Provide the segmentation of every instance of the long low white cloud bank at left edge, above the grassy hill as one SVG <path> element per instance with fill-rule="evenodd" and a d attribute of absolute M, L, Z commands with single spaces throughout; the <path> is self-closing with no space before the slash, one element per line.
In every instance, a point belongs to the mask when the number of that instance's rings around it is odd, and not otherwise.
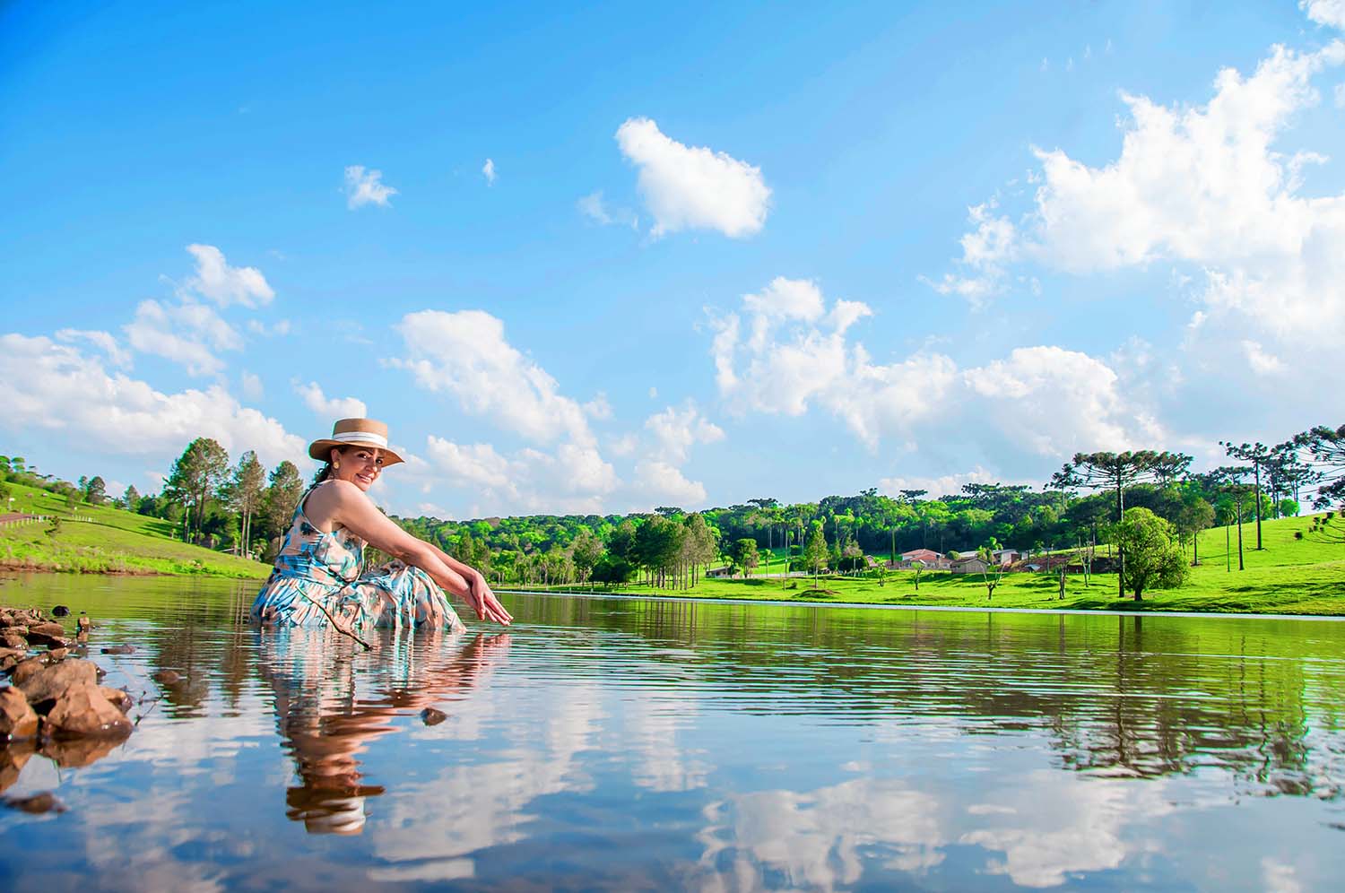
<path fill-rule="evenodd" d="M 13 430 L 61 432 L 117 455 L 167 457 L 195 437 L 214 437 L 231 453 L 256 449 L 266 464 L 305 455 L 301 438 L 221 386 L 165 394 L 47 338 L 0 335 L 0 378 L 11 386 L 0 424 Z"/>

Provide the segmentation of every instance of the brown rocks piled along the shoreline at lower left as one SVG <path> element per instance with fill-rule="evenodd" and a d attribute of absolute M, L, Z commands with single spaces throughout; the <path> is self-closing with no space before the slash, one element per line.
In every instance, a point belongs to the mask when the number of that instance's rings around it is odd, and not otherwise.
<path fill-rule="evenodd" d="M 136 699 L 100 685 L 105 671 L 87 659 L 90 628 L 85 615 L 71 635 L 38 609 L 0 607 L 0 674 L 8 676 L 0 687 L 0 795 L 35 754 L 62 768 L 83 767 L 134 730 L 128 714 Z M 0 802 L 27 812 L 65 810 L 50 792 Z"/>

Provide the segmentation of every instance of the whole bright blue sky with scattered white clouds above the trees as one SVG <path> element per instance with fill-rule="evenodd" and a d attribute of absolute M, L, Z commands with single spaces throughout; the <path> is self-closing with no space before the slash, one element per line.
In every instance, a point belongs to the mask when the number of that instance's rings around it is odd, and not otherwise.
<path fill-rule="evenodd" d="M 1342 421 L 1338 1 L 235 7 L 0 12 L 0 452 L 362 405 L 461 518 Z"/>

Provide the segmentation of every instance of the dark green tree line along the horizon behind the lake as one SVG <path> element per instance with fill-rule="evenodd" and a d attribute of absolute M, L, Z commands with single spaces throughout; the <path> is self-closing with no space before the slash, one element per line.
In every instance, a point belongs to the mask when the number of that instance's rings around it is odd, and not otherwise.
<path fill-rule="evenodd" d="M 529 515 L 475 520 L 395 518 L 404 529 L 480 568 L 499 584 L 615 584 L 643 580 L 687 588 L 712 568 L 819 574 L 858 572 L 866 555 L 896 559 L 902 551 L 972 551 L 990 545 L 1024 551 L 1115 546 L 1118 585 L 1126 580 L 1122 527 L 1143 508 L 1162 531 L 1190 547 L 1210 526 L 1295 515 L 1305 494 L 1317 508 L 1345 502 L 1345 425 L 1317 426 L 1284 442 L 1221 442 L 1229 464 L 1192 472 L 1192 457 L 1165 451 L 1077 453 L 1052 480 L 970 483 L 956 494 L 924 490 L 896 495 L 876 488 L 815 503 L 759 498 L 699 512 L 663 506 L 629 515 Z M 217 549 L 273 558 L 304 492 L 299 468 L 281 461 L 268 472 L 254 452 L 230 463 L 217 441 L 200 437 L 183 451 L 157 495 L 128 487 L 109 498 L 100 476 L 78 484 L 36 475 L 22 457 L 0 456 L 0 475 L 27 480 L 79 502 L 116 503 L 164 518 L 179 535 Z M 1151 533 L 1151 531 L 1150 531 Z M 1240 562 L 1241 564 L 1241 562 Z M 1138 573 L 1138 570 L 1137 570 Z"/>

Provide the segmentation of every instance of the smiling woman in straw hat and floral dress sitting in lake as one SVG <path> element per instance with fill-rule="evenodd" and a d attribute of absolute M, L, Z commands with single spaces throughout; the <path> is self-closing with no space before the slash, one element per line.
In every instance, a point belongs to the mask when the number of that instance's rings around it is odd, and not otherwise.
<path fill-rule="evenodd" d="M 295 508 L 276 569 L 252 607 L 266 625 L 321 625 L 346 633 L 369 627 L 465 629 L 444 590 L 482 620 L 512 617 L 486 578 L 389 520 L 366 495 L 387 465 L 402 457 L 387 446 L 387 425 L 343 418 L 308 455 L 327 465 Z M 395 559 L 363 570 L 364 546 Z"/>

